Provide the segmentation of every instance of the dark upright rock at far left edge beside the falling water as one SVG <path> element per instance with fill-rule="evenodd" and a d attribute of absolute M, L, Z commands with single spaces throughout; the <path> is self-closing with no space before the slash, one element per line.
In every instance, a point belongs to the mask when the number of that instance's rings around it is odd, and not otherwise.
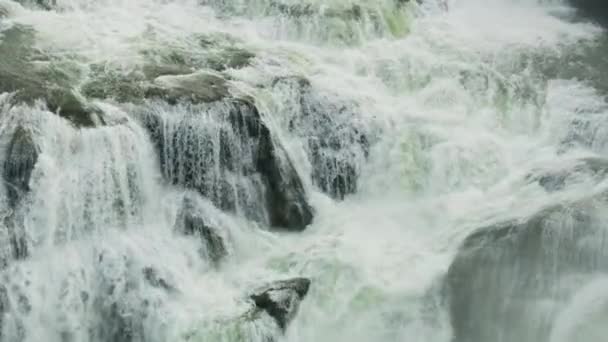
<path fill-rule="evenodd" d="M 38 161 L 38 154 L 32 133 L 23 126 L 18 126 L 8 145 L 2 174 L 12 208 L 30 190 L 30 177 Z"/>

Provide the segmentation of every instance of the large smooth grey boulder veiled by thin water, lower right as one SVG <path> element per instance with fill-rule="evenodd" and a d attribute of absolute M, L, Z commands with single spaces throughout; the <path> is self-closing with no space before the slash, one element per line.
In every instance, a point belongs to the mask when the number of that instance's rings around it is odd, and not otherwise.
<path fill-rule="evenodd" d="M 454 341 L 548 341 L 559 306 L 608 270 L 605 213 L 601 195 L 467 237 L 445 280 Z"/>

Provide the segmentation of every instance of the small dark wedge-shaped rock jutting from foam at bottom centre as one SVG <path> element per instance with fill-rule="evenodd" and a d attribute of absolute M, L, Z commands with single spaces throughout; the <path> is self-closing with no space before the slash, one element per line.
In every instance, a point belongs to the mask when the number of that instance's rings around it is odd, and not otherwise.
<path fill-rule="evenodd" d="M 264 310 L 275 319 L 277 325 L 285 330 L 308 294 L 310 279 L 294 278 L 274 282 L 251 295 L 259 310 Z"/>

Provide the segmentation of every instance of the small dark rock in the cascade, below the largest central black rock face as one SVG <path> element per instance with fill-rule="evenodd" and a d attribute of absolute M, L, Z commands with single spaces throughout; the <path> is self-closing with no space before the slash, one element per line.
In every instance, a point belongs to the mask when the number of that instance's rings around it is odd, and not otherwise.
<path fill-rule="evenodd" d="M 177 231 L 185 235 L 197 236 L 201 240 L 203 247 L 200 252 L 204 257 L 217 264 L 228 255 L 222 235 L 217 232 L 217 228 L 210 227 L 196 212 L 193 201 L 188 197 L 184 198 L 177 220 L 175 224 Z"/>

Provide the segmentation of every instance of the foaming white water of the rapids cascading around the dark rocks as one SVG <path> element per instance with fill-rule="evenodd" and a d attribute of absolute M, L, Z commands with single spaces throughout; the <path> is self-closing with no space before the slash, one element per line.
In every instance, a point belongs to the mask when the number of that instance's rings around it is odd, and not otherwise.
<path fill-rule="evenodd" d="M 286 13 L 276 3 L 294 7 Z M 40 151 L 16 213 L 8 188 L 0 187 L 0 216 L 16 215 L 28 241 L 28 257 L 7 262 L 0 275 L 12 303 L 0 320 L 2 342 L 119 342 L 92 333 L 115 324 L 108 313 L 114 309 L 100 313 L 87 303 L 95 291 L 110 293 L 99 305 L 118 303 L 120 315 L 139 324 L 120 342 L 450 342 L 444 278 L 469 234 L 608 189 L 587 175 L 555 192 L 527 181 L 538 170 L 608 154 L 608 40 L 567 2 L 426 0 L 396 7 L 392 0 L 309 0 L 295 13 L 298 3 L 57 0 L 42 8 L 0 0 L 0 52 L 10 42 L 3 32 L 31 27 L 36 51 L 80 70 L 85 83 L 97 77 L 90 65 L 130 75 L 147 51 L 205 55 L 198 36 L 251 52 L 250 63 L 228 66 L 222 77 L 233 93 L 255 99 L 314 209 L 304 231 L 283 232 L 268 217 L 222 211 L 214 198 L 196 197 L 207 219 L 222 227 L 228 256 L 217 266 L 200 258 L 197 241 L 175 236 L 180 203 L 192 189 L 167 181 L 141 124 L 141 108 L 169 118 L 166 127 L 194 109 L 98 98 L 91 103 L 103 110 L 105 125 L 75 128 L 40 101 L 13 106 L 12 95 L 2 94 L 3 146 L 19 123 Z M 321 107 L 352 113 L 335 127 L 356 120 L 370 137 L 369 151 L 353 157 L 356 191 L 343 200 L 313 177 L 331 171 L 315 169 L 306 150 L 305 137 L 318 127 L 290 128 L 295 88 L 273 82 L 294 75 L 308 80 L 319 103 L 327 103 Z M 214 110 L 188 127 L 214 137 L 224 127 Z M 182 158 L 191 143 L 172 153 Z M 8 246 L 2 225 L 0 246 Z M 8 249 L 0 253 L 10 259 Z M 149 265 L 178 291 L 139 284 L 133 274 Z M 312 283 L 284 333 L 270 317 L 241 318 L 248 291 L 293 277 Z M 603 341 L 605 285 L 598 272 L 556 304 L 541 340 Z M 495 336 L 470 342 L 514 342 Z M 525 331 L 520 337 L 535 341 Z"/>

